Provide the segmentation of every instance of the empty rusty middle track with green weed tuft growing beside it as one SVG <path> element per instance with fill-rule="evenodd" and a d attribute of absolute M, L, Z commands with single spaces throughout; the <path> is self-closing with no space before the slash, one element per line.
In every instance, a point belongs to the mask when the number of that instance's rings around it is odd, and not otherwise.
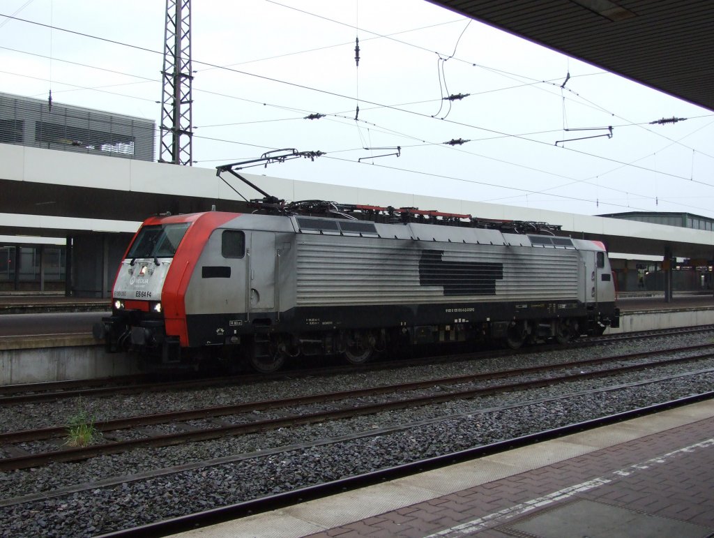
<path fill-rule="evenodd" d="M 673 357 L 673 355 L 678 356 Z M 89 447 L 63 447 L 62 439 L 66 435 L 66 427 L 7 432 L 0 434 L 0 449 L 4 453 L 4 457 L 0 459 L 0 470 L 39 467 L 53 462 L 117 454 L 139 447 L 160 447 L 216 439 L 227 435 L 263 432 L 268 429 L 328 422 L 394 409 L 423 407 L 458 399 L 517 392 L 682 362 L 697 362 L 713 356 L 714 344 L 703 344 L 667 351 L 638 352 L 547 366 L 509 369 L 502 372 L 467 374 L 288 399 L 129 417 L 94 424 L 94 427 L 102 432 L 103 439 L 99 444 Z M 661 358 L 655 359 L 655 357 Z M 625 362 L 634 362 L 634 364 L 623 364 Z M 545 375 L 532 379 L 536 374 Z M 531 377 L 531 379 L 518 379 L 519 377 Z M 508 379 L 516 380 L 508 382 Z M 486 384 L 484 385 L 483 382 Z M 385 397 L 386 395 L 389 396 Z M 373 397 L 379 398 L 369 400 Z M 328 409 L 315 411 L 310 408 L 316 404 L 324 407 L 324 404 L 328 403 L 330 404 Z M 268 410 L 273 410 L 276 416 L 255 419 L 256 413 Z M 231 421 L 226 421 L 225 417 L 232 417 Z M 159 429 L 148 429 L 158 425 L 161 426 Z M 136 436 L 136 432 L 139 432 L 139 437 Z M 33 446 L 30 445 L 32 443 Z M 40 447 L 39 452 L 36 447 Z"/>

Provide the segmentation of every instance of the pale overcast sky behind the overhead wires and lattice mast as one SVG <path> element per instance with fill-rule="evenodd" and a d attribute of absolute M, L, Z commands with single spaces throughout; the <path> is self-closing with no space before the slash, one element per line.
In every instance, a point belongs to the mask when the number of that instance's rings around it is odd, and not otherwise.
<path fill-rule="evenodd" d="M 194 166 L 319 150 L 314 162 L 246 171 L 581 214 L 714 217 L 711 111 L 424 0 L 192 7 Z M 25 21 L 0 17 L 0 91 L 46 99 L 51 89 L 55 103 L 158 126 L 164 9 L 3 0 L 0 14 Z M 470 96 L 443 100 L 452 94 Z M 303 119 L 316 113 L 326 117 Z M 687 119 L 650 124 L 673 116 Z M 556 144 L 609 132 L 564 129 L 608 126 L 611 138 Z M 468 142 L 443 144 L 452 139 Z M 396 150 L 364 148 L 396 146 L 398 157 L 365 159 Z"/>

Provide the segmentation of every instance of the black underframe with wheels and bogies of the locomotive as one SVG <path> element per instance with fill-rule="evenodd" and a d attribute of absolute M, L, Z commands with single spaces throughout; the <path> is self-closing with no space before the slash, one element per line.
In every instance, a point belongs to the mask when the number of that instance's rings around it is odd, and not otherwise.
<path fill-rule="evenodd" d="M 572 301 L 303 307 L 261 314 L 188 315 L 189 347 L 166 335 L 161 317 L 118 311 L 105 318 L 108 352 L 138 351 L 153 364 L 197 366 L 218 357 L 248 359 L 271 372 L 290 357 L 342 354 L 366 362 L 403 345 L 501 342 L 517 348 L 545 339 L 567 342 L 618 327 L 614 303 Z"/>

